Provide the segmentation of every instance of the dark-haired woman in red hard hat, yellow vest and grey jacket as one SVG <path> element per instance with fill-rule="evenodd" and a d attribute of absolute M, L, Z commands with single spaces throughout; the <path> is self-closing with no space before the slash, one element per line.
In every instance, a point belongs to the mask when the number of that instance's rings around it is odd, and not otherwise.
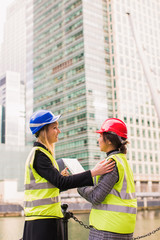
<path fill-rule="evenodd" d="M 78 189 L 92 203 L 89 240 L 131 240 L 137 200 L 133 173 L 126 159 L 127 127 L 122 120 L 109 118 L 96 132 L 100 133 L 100 150 L 116 164 L 112 172 L 95 177 L 93 187 Z"/>

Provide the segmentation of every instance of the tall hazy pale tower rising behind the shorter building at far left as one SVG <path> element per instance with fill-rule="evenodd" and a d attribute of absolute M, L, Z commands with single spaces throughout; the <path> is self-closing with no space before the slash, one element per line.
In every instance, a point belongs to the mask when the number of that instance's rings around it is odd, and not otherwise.
<path fill-rule="evenodd" d="M 14 0 L 7 8 L 4 38 L 1 46 L 0 75 L 6 71 L 26 79 L 26 0 Z"/>

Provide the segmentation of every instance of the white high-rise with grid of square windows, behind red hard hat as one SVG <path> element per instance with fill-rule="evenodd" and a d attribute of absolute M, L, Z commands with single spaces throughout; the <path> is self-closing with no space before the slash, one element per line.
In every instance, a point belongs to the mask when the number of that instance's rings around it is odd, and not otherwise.
<path fill-rule="evenodd" d="M 150 67 L 152 84 L 160 86 L 160 3 L 107 1 L 110 42 L 112 106 L 114 116 L 128 126 L 130 160 L 138 191 L 159 189 L 160 119 L 147 84 L 127 12 L 130 13 L 138 45 Z M 150 14 L 148 16 L 148 14 Z"/>

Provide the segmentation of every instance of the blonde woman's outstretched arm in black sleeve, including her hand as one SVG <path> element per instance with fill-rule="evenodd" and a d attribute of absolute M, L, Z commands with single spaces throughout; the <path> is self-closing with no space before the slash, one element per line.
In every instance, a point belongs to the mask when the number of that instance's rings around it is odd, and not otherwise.
<path fill-rule="evenodd" d="M 104 172 L 112 171 L 113 164 L 114 163 L 110 163 L 107 165 L 106 161 L 103 160 L 97 163 L 91 171 L 88 170 L 71 176 L 63 176 L 52 165 L 51 160 L 43 152 L 36 151 L 33 167 L 41 177 L 45 178 L 61 191 L 65 191 L 71 188 L 93 186 L 92 177 Z"/>

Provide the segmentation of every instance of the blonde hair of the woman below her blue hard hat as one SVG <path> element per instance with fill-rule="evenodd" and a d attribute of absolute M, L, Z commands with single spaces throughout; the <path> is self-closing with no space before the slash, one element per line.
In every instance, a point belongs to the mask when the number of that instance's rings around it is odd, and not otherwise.
<path fill-rule="evenodd" d="M 38 134 L 38 138 L 37 141 L 42 143 L 47 149 L 48 151 L 54 155 L 54 144 L 50 144 L 48 142 L 48 137 L 47 137 L 47 131 L 48 131 L 48 125 L 44 126 L 44 128 L 39 132 Z"/>

